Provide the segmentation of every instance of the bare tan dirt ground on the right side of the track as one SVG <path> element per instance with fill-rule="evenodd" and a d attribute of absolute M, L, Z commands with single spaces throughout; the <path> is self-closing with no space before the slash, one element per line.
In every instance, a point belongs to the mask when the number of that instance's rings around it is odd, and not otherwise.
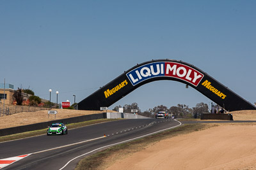
<path fill-rule="evenodd" d="M 256 120 L 256 111 L 236 111 L 234 120 Z M 113 169 L 256 169 L 256 124 L 220 124 L 159 141 L 118 160 Z"/>

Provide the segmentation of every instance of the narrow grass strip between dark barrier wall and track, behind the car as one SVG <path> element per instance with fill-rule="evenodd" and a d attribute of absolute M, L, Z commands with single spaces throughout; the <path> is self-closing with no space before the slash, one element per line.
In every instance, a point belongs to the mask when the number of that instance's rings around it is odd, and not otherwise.
<path fill-rule="evenodd" d="M 66 124 L 68 129 L 74 129 L 77 127 L 84 127 L 86 125 L 93 125 L 93 124 L 100 124 L 103 122 L 109 122 L 109 121 L 115 121 L 116 119 L 110 119 L 110 118 L 102 118 L 102 119 L 97 119 L 97 120 L 89 120 L 86 122 L 79 122 L 76 124 Z M 4 141 L 12 141 L 15 139 L 22 139 L 22 138 L 29 138 L 29 137 L 33 137 L 33 136 L 38 136 L 38 135 L 42 135 L 45 134 L 46 135 L 46 129 L 42 129 L 42 130 L 37 130 L 37 131 L 29 131 L 29 132 L 23 132 L 23 133 L 19 133 L 19 134 L 12 134 L 12 135 L 8 135 L 8 136 L 1 136 L 0 137 L 0 142 L 4 142 Z"/>

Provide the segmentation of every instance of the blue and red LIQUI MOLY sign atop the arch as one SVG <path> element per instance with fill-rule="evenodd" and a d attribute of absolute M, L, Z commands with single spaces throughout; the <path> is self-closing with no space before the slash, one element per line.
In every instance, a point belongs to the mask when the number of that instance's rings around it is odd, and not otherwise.
<path fill-rule="evenodd" d="M 149 78 L 168 76 L 184 80 L 197 87 L 204 77 L 204 74 L 178 62 L 152 62 L 133 69 L 127 73 L 126 76 L 129 78 L 132 85 L 137 85 Z"/>

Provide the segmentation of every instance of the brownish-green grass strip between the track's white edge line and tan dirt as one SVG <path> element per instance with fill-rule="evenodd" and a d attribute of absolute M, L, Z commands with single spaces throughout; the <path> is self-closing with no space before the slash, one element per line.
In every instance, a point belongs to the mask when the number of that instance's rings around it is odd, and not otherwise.
<path fill-rule="evenodd" d="M 76 170 L 84 169 L 106 169 L 106 167 L 114 164 L 116 160 L 124 159 L 132 153 L 140 152 L 150 145 L 154 145 L 158 141 L 167 138 L 173 138 L 180 134 L 188 134 L 190 132 L 202 131 L 209 127 L 216 126 L 214 124 L 186 124 L 181 125 L 175 129 L 170 129 L 168 131 L 159 132 L 157 134 L 147 136 L 145 138 L 136 139 L 129 143 L 124 143 L 111 148 L 107 148 L 101 152 L 95 153 L 89 157 L 84 158 L 77 164 Z M 166 145 L 172 145 L 170 143 Z"/>

